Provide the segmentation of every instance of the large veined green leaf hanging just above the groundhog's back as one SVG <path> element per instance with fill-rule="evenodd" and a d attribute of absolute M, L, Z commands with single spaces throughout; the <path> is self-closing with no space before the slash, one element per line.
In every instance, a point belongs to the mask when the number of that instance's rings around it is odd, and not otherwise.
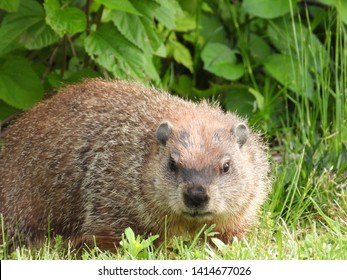
<path fill-rule="evenodd" d="M 145 59 L 140 49 L 131 44 L 111 23 L 104 24 L 85 39 L 87 53 L 116 77 L 143 78 Z"/>

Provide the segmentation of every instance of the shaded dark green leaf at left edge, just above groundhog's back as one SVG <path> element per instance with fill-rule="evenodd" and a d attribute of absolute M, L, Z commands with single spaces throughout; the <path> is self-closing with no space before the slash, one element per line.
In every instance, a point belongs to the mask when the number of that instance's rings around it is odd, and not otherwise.
<path fill-rule="evenodd" d="M 43 87 L 30 63 L 21 57 L 0 59 L 0 99 L 27 109 L 42 99 Z"/>

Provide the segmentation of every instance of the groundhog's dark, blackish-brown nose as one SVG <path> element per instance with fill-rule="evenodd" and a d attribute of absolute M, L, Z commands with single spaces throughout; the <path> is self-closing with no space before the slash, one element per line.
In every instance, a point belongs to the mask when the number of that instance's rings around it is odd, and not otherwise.
<path fill-rule="evenodd" d="M 183 197 L 184 204 L 189 208 L 202 208 L 210 199 L 206 188 L 201 185 L 188 186 Z"/>

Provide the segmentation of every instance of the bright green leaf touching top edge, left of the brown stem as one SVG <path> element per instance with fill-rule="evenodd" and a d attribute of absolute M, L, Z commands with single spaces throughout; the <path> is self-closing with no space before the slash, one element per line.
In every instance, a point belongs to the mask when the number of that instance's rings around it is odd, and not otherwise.
<path fill-rule="evenodd" d="M 84 32 L 87 27 L 85 14 L 76 7 L 60 7 L 59 0 L 45 0 L 46 22 L 52 29 L 63 37 L 69 33 L 73 35 Z"/>

